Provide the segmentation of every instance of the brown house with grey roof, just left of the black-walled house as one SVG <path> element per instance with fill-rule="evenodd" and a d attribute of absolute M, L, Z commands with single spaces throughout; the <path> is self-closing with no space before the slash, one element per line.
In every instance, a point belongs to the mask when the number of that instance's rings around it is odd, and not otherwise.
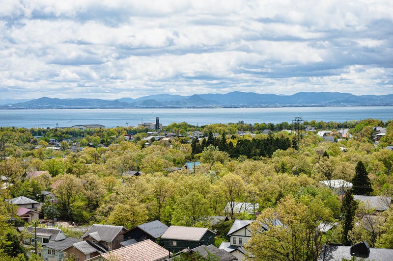
<path fill-rule="evenodd" d="M 92 225 L 89 230 L 82 236 L 83 240 L 89 240 L 92 243 L 100 243 L 107 250 L 120 248 L 120 242 L 123 241 L 123 233 L 127 229 L 123 226 L 111 225 Z"/>

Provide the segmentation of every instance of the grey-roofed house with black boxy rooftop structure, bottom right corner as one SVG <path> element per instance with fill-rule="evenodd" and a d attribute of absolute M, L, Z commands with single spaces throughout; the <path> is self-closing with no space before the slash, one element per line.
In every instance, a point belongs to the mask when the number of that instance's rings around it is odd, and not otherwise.
<path fill-rule="evenodd" d="M 363 261 L 387 261 L 392 260 L 392 256 L 393 249 L 368 247 L 366 242 L 352 247 L 331 244 L 323 247 L 318 261 L 353 260 L 354 257 Z"/>

